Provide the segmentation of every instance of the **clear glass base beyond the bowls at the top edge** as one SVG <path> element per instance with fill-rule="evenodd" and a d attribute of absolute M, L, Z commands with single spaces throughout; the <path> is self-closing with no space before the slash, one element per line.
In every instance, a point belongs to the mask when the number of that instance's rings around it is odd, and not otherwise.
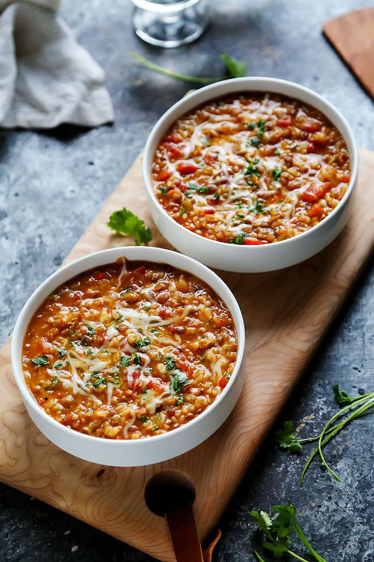
<path fill-rule="evenodd" d="M 157 47 L 179 47 L 203 33 L 209 22 L 208 0 L 131 0 L 133 28 Z"/>

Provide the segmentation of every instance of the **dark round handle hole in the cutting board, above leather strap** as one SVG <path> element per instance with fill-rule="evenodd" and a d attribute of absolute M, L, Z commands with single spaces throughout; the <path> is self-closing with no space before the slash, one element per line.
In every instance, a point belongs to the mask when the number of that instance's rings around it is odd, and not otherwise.
<path fill-rule="evenodd" d="M 177 470 L 155 474 L 144 490 L 148 509 L 160 517 L 174 507 L 193 504 L 195 497 L 194 483 L 185 473 Z"/>

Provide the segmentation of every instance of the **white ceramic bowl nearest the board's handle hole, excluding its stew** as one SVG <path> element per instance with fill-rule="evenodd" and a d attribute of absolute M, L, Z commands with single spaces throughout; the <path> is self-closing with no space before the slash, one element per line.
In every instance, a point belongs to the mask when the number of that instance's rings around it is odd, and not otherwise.
<path fill-rule="evenodd" d="M 38 307 L 54 289 L 83 271 L 115 262 L 118 257 L 129 260 L 166 263 L 189 271 L 212 287 L 226 303 L 234 318 L 238 334 L 238 356 L 234 372 L 226 388 L 202 414 L 190 422 L 168 433 L 133 441 L 112 440 L 87 436 L 65 427 L 45 413 L 37 404 L 25 382 L 22 371 L 21 356 L 25 331 Z M 21 310 L 12 337 L 12 367 L 17 386 L 20 389 L 26 409 L 35 425 L 48 439 L 64 451 L 80 459 L 108 466 L 140 466 L 160 463 L 189 451 L 202 443 L 224 423 L 239 398 L 243 386 L 240 366 L 244 354 L 243 316 L 234 295 L 227 285 L 206 266 L 190 257 L 162 248 L 122 247 L 112 248 L 85 256 L 59 269 L 48 277 L 31 295 Z"/>

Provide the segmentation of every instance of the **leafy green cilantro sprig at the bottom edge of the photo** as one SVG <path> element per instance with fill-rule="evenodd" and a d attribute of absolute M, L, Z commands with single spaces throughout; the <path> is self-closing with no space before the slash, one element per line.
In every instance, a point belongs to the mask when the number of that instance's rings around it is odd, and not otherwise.
<path fill-rule="evenodd" d="M 302 558 L 302 556 L 299 556 L 293 550 L 290 550 L 293 547 L 290 535 L 295 533 L 314 559 L 318 562 L 326 562 L 326 560 L 313 549 L 307 537 L 305 537 L 296 517 L 296 507 L 290 503 L 288 503 L 288 505 L 273 505 L 272 507 L 277 513 L 277 518 L 275 519 L 271 519 L 266 511 L 250 512 L 250 516 L 254 519 L 254 524 L 261 529 L 264 535 L 263 548 L 272 552 L 274 558 L 280 558 L 283 554 L 289 554 L 297 560 L 308 562 L 308 560 Z M 254 550 L 254 554 L 260 562 L 264 562 L 257 550 Z"/>

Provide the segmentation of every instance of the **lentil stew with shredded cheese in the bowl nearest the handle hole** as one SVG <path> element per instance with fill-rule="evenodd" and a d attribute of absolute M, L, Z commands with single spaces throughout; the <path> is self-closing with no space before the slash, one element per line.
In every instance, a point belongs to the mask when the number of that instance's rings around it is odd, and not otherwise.
<path fill-rule="evenodd" d="M 234 320 L 202 280 L 163 264 L 120 260 L 71 279 L 39 307 L 22 350 L 45 412 L 111 439 L 165 433 L 225 388 Z"/>

